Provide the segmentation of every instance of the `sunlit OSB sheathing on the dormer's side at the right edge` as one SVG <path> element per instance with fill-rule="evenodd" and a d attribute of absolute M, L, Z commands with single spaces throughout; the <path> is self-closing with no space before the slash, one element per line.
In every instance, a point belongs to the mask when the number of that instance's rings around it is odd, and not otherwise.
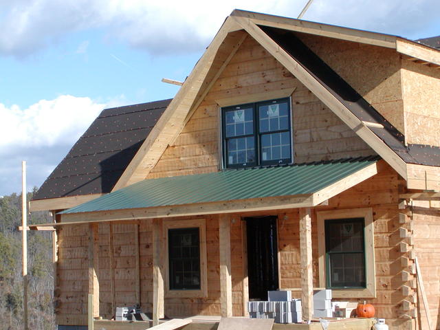
<path fill-rule="evenodd" d="M 440 70 L 402 61 L 406 141 L 440 146 Z"/>

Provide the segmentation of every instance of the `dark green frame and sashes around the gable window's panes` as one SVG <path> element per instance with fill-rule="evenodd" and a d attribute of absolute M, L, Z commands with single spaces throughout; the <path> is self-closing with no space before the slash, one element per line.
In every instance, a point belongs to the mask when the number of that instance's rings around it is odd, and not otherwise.
<path fill-rule="evenodd" d="M 289 107 L 288 111 L 288 117 L 289 117 L 289 129 L 287 130 L 278 130 L 273 133 L 280 133 L 281 131 L 288 131 L 289 132 L 289 138 L 290 138 L 290 159 L 283 162 L 278 163 L 278 160 L 269 160 L 269 161 L 263 161 L 261 160 L 261 136 L 265 134 L 270 134 L 272 132 L 260 132 L 259 129 L 259 104 L 265 104 L 267 102 L 272 101 L 281 101 L 286 100 L 287 101 L 287 107 Z M 226 137 L 225 135 L 225 111 L 234 109 L 234 107 L 252 107 L 252 111 L 254 114 L 254 133 L 252 136 L 254 137 L 254 150 L 255 150 L 255 162 L 248 163 L 246 166 L 243 166 L 241 164 L 234 164 L 232 166 L 228 166 L 227 162 L 227 147 L 226 147 L 226 141 L 233 137 Z M 292 114 L 292 97 L 291 96 L 285 96 L 281 98 L 272 98 L 267 100 L 256 100 L 254 102 L 246 102 L 242 104 L 232 104 L 227 105 L 219 108 L 219 118 L 220 118 L 220 129 L 219 129 L 219 137 L 220 137 L 220 146 L 221 146 L 221 168 L 223 169 L 233 169 L 233 168 L 248 168 L 248 167 L 254 167 L 254 166 L 273 166 L 277 164 L 292 164 L 294 162 L 294 135 L 293 135 L 293 114 Z M 243 135 L 245 137 L 246 135 Z"/>

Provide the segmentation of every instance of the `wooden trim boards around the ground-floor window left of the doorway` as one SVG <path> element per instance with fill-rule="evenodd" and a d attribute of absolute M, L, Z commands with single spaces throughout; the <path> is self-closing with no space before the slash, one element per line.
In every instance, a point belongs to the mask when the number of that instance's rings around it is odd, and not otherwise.
<path fill-rule="evenodd" d="M 168 258 L 168 230 L 182 228 L 199 228 L 200 244 L 200 289 L 170 289 L 170 272 Z M 164 220 L 164 294 L 166 298 L 206 298 L 208 297 L 208 270 L 206 259 L 206 221 L 205 219 Z"/>

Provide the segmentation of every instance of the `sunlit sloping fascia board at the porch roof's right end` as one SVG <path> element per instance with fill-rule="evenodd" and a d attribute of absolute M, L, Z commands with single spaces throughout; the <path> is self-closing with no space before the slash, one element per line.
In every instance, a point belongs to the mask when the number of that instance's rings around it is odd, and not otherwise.
<path fill-rule="evenodd" d="M 335 197 L 341 192 L 348 190 L 349 188 L 360 184 L 362 181 L 373 177 L 373 175 L 376 175 L 378 173 L 377 163 L 378 162 L 375 162 L 374 164 L 366 166 L 365 168 L 362 168 L 361 170 L 358 170 L 357 172 L 347 177 L 344 177 L 344 179 L 341 179 L 334 184 L 331 184 L 330 186 L 322 188 L 321 190 L 315 192 L 314 203 L 319 204 L 323 201 L 327 201 L 331 197 Z"/>

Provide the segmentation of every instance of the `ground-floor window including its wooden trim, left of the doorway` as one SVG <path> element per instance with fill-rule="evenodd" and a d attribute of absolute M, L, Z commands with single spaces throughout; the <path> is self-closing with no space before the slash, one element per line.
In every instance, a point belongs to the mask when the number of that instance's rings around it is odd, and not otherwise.
<path fill-rule="evenodd" d="M 167 297 L 206 297 L 205 219 L 164 220 Z"/>

